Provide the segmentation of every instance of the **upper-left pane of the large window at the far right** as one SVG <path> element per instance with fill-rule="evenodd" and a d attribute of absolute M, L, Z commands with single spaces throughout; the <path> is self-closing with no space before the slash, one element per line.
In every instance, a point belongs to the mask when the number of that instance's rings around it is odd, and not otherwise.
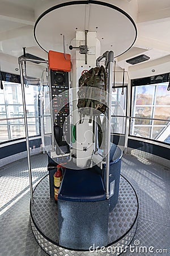
<path fill-rule="evenodd" d="M 152 105 L 155 93 L 155 85 L 133 87 L 135 91 L 135 105 Z"/>

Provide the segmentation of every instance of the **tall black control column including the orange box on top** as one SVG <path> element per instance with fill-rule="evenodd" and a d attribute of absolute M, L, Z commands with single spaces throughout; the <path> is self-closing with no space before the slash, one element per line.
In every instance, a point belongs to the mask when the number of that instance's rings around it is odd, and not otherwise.
<path fill-rule="evenodd" d="M 70 69 L 70 55 L 64 56 L 61 52 L 49 51 L 49 92 L 52 118 L 50 157 L 55 162 L 58 158 L 68 159 L 70 156 Z"/>

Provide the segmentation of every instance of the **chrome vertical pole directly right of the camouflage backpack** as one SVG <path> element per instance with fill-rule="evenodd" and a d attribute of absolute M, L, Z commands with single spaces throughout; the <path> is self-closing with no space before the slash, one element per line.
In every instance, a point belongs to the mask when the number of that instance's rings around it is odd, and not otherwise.
<path fill-rule="evenodd" d="M 106 158 L 106 197 L 109 199 L 109 167 L 110 167 L 110 147 L 111 147 L 111 102 L 112 102 L 112 76 L 113 76 L 113 51 L 108 54 L 108 106 L 107 106 L 107 158 Z"/>

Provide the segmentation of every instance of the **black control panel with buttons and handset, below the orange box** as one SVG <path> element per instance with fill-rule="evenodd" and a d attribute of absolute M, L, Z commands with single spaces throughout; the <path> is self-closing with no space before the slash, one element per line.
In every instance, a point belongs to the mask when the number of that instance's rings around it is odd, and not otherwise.
<path fill-rule="evenodd" d="M 50 70 L 54 148 L 56 154 L 70 152 L 69 72 Z"/>

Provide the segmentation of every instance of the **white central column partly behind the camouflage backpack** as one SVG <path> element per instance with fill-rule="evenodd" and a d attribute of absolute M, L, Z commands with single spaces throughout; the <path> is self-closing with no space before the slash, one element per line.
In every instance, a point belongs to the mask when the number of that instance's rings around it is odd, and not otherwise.
<path fill-rule="evenodd" d="M 75 45 L 76 43 L 76 45 Z M 85 32 L 77 31 L 76 38 L 73 40 L 73 45 L 79 47 L 85 44 Z M 84 118 L 83 123 L 79 124 L 80 115 L 78 113 L 78 81 L 84 70 L 89 70 L 96 66 L 96 58 L 100 55 L 100 42 L 96 38 L 96 32 L 87 33 L 87 64 L 85 64 L 85 55 L 79 53 L 79 49 L 73 49 L 75 59 L 72 62 L 72 87 L 73 87 L 73 124 L 76 125 L 76 142 L 73 143 L 73 154 L 76 156 L 76 165 L 80 168 L 85 168 L 87 160 L 91 158 L 94 150 L 93 142 L 93 127 L 89 123 L 89 117 Z"/>

